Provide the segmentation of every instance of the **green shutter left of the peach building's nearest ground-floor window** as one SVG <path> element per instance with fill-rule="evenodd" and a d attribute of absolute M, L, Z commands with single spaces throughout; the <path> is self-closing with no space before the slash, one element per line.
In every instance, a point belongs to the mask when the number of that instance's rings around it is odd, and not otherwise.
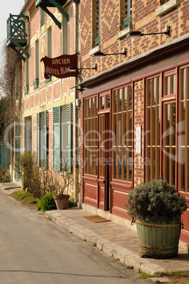
<path fill-rule="evenodd" d="M 53 170 L 61 170 L 61 106 L 53 107 Z"/>

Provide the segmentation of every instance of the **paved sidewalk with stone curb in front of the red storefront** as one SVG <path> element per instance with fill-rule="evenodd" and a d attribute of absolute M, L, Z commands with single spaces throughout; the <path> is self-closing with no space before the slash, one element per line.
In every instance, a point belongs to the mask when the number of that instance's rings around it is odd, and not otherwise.
<path fill-rule="evenodd" d="M 1 191 L 6 194 L 18 190 L 16 184 L 0 184 Z M 7 189 L 9 187 L 9 189 Z M 154 275 L 166 271 L 189 271 L 189 254 L 181 251 L 173 259 L 147 259 L 140 258 L 137 244 L 137 232 L 130 227 L 119 225 L 113 221 L 105 223 L 93 223 L 84 218 L 94 215 L 81 208 L 69 208 L 67 210 L 55 210 L 45 212 L 45 218 L 52 220 L 57 225 L 64 227 L 74 235 L 91 242 L 105 254 L 119 259 L 125 266 L 133 266 L 142 272 Z"/>

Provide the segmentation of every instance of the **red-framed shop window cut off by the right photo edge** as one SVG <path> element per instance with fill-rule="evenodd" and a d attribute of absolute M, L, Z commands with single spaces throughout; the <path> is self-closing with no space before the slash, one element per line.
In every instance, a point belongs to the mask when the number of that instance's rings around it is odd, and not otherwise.
<path fill-rule="evenodd" d="M 189 66 L 179 72 L 178 190 L 189 192 Z"/>

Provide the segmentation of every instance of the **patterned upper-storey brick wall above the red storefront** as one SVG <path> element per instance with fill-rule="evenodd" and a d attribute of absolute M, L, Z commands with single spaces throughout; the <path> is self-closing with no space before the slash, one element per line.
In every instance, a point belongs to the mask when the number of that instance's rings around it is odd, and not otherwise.
<path fill-rule="evenodd" d="M 93 35 L 91 26 L 93 25 L 92 4 L 93 1 L 84 0 L 80 5 L 80 25 L 81 25 L 81 66 L 91 67 L 98 64 L 98 71 L 82 71 L 82 79 L 93 76 L 97 73 L 110 69 L 111 67 L 127 61 L 133 57 L 147 52 L 150 49 L 171 42 L 177 37 L 181 37 L 189 32 L 189 2 L 181 1 L 181 5 L 172 8 L 171 11 L 162 16 L 156 16 L 156 8 L 159 1 L 132 1 L 132 25 L 133 30 L 144 33 L 164 32 L 165 25 L 171 26 L 171 36 L 149 35 L 137 39 L 122 37 L 117 39 L 120 31 L 120 7 L 124 8 L 124 1 L 101 0 L 101 51 L 104 53 L 122 52 L 123 47 L 127 48 L 127 57 L 123 55 L 92 58 L 89 56 Z M 126 10 L 126 8 L 125 8 Z M 123 16 L 122 16 L 123 17 Z"/>

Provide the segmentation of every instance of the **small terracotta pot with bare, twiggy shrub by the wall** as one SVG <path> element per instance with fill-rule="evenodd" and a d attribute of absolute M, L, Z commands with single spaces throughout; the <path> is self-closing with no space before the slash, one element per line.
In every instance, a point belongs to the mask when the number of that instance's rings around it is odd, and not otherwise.
<path fill-rule="evenodd" d="M 57 190 L 54 194 L 57 209 L 64 210 L 68 208 L 69 203 L 69 185 L 74 184 L 74 176 L 67 164 L 62 168 L 61 184 L 57 183 Z"/>

